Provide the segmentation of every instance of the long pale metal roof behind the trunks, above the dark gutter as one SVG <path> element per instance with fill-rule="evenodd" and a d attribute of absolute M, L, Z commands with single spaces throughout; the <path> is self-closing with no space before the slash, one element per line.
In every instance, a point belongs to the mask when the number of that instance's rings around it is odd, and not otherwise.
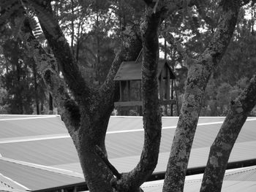
<path fill-rule="evenodd" d="M 16 183 L 31 190 L 83 182 L 78 155 L 59 116 L 3 119 L 5 120 L 1 120 L 0 117 L 0 135 L 2 129 L 5 134 L 5 137 L 2 135 L 0 137 L 0 173 L 4 177 L 10 177 Z M 209 147 L 224 119 L 200 117 L 195 142 L 192 145 L 189 168 L 206 165 Z M 255 120 L 255 118 L 248 118 L 244 123 L 230 155 L 230 162 L 256 158 Z M 159 164 L 155 172 L 164 172 L 166 169 L 177 122 L 178 118 L 162 118 L 162 142 Z M 29 128 L 26 128 L 28 125 Z M 20 130 L 23 131 L 21 136 Z M 111 117 L 106 147 L 110 162 L 119 172 L 132 169 L 138 163 L 143 147 L 142 118 Z M 29 177 L 33 178 L 25 179 Z M 35 181 L 35 178 L 40 181 L 39 177 L 42 177 L 43 185 Z"/>

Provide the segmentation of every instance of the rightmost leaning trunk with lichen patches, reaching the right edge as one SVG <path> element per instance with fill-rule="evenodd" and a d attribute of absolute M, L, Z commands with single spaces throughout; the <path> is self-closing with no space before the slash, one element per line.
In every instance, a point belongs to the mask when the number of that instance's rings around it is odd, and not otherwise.
<path fill-rule="evenodd" d="M 222 189 L 222 180 L 225 175 L 227 161 L 236 142 L 238 134 L 246 121 L 249 112 L 256 104 L 256 75 L 252 77 L 249 85 L 235 101 L 230 102 L 222 127 L 211 145 L 208 162 L 203 174 L 201 192 L 218 192 Z"/>

